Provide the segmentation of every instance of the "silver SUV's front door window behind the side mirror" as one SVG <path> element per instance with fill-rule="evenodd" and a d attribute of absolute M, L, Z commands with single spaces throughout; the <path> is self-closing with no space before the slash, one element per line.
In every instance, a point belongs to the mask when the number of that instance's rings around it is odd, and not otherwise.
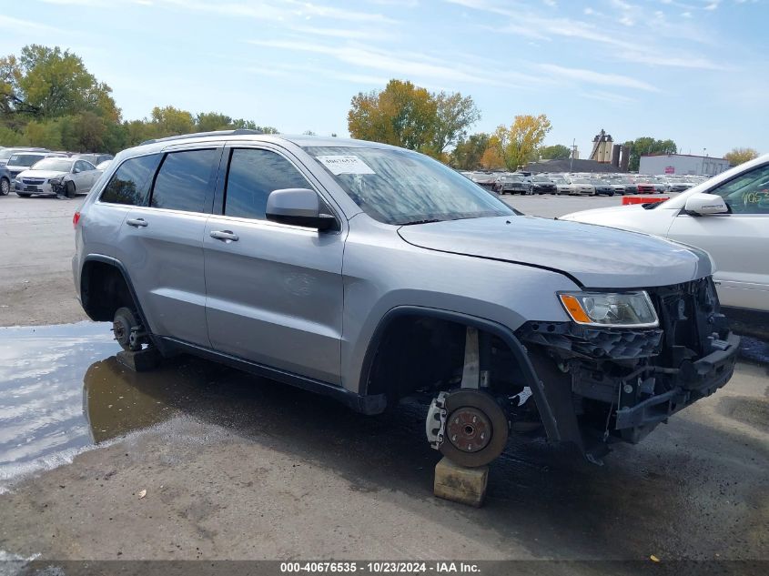
<path fill-rule="evenodd" d="M 225 216 L 265 219 L 267 197 L 281 188 L 309 188 L 288 160 L 270 150 L 236 148 L 229 160 Z"/>

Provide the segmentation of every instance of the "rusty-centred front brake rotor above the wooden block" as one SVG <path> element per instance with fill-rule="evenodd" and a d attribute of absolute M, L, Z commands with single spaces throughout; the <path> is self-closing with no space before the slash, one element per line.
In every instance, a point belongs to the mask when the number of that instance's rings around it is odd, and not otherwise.
<path fill-rule="evenodd" d="M 445 398 L 445 440 L 440 452 L 460 466 L 485 466 L 505 449 L 509 423 L 504 410 L 486 392 L 458 389 Z"/>

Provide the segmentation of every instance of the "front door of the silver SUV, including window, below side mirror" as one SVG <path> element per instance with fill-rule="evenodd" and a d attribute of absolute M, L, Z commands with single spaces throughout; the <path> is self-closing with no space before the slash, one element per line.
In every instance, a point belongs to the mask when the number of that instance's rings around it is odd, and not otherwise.
<path fill-rule="evenodd" d="M 218 213 L 203 237 L 211 345 L 339 384 L 344 232 L 265 219 L 272 190 L 318 191 L 278 148 L 229 147 L 222 162 Z"/>

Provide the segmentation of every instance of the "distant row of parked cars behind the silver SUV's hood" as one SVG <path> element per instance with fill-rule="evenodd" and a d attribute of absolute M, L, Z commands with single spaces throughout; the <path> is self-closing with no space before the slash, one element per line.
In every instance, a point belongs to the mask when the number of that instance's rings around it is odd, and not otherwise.
<path fill-rule="evenodd" d="M 639 174 L 584 174 L 528 172 L 461 172 L 476 184 L 497 194 L 569 194 L 615 196 L 683 192 L 704 181 L 703 177 L 664 177 Z"/>

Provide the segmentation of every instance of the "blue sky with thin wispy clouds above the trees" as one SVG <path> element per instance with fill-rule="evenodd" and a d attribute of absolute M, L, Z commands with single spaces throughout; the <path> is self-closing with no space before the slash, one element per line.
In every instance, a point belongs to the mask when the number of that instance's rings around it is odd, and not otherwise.
<path fill-rule="evenodd" d="M 352 96 L 390 78 L 472 96 L 472 132 L 546 114 L 590 154 L 671 138 L 683 154 L 769 152 L 769 0 L 27 0 L 0 55 L 81 56 L 125 119 L 154 106 L 348 136 Z"/>

